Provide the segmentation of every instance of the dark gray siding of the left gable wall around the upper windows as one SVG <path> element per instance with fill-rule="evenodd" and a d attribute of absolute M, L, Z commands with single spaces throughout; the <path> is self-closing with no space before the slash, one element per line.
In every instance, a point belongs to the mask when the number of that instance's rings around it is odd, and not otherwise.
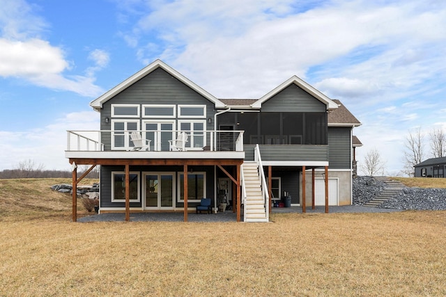
<path fill-rule="evenodd" d="M 110 130 L 112 127 L 111 120 L 109 123 L 105 122 L 105 118 L 111 118 L 112 104 L 140 104 L 141 119 L 143 115 L 142 104 L 206 104 L 206 119 L 212 118 L 212 122 L 210 123 L 206 120 L 206 129 L 214 129 L 213 117 L 215 114 L 215 106 L 213 102 L 210 102 L 161 68 L 157 68 L 157 70 L 154 70 L 143 79 L 140 79 L 132 86 L 105 102 L 100 115 L 101 130 Z M 141 122 L 139 125 L 141 127 Z M 176 127 L 178 129 L 178 123 Z M 102 134 L 102 143 L 105 144 L 106 150 L 109 149 L 109 133 Z"/>

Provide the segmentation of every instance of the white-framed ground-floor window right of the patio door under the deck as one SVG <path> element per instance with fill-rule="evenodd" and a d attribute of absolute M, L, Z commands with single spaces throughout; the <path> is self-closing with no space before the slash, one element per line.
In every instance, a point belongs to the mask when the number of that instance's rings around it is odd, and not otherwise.
<path fill-rule="evenodd" d="M 184 202 L 184 173 L 178 173 L 178 202 Z M 206 198 L 206 172 L 190 172 L 187 174 L 187 201 L 200 202 Z"/>

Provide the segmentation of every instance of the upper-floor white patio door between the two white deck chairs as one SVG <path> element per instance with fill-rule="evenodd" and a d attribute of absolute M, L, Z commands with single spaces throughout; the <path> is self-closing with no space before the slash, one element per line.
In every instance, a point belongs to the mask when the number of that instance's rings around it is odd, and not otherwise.
<path fill-rule="evenodd" d="M 144 136 L 151 140 L 151 151 L 169 151 L 169 141 L 175 139 L 175 122 L 144 121 Z"/>

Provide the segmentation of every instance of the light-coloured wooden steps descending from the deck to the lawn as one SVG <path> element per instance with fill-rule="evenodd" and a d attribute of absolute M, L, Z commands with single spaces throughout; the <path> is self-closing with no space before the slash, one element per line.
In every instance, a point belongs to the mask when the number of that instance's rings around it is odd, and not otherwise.
<path fill-rule="evenodd" d="M 256 162 L 243 163 L 246 199 L 244 202 L 245 222 L 268 222 L 265 201 L 261 188 L 261 176 Z"/>

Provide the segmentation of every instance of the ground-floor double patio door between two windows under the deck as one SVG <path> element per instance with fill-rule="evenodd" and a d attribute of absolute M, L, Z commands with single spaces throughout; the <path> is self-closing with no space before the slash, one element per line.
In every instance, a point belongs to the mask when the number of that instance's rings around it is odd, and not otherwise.
<path fill-rule="evenodd" d="M 147 172 L 144 174 L 145 209 L 174 209 L 174 199 L 174 172 Z"/>

